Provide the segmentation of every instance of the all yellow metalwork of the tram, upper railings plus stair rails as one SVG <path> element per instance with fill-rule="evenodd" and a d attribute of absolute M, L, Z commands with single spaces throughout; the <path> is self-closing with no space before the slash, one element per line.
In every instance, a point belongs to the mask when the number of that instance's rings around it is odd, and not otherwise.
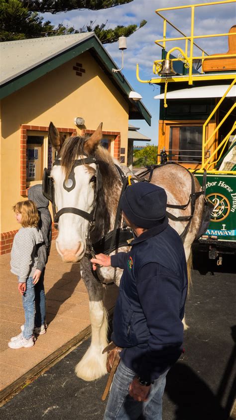
<path fill-rule="evenodd" d="M 210 130 L 209 137 L 208 137 L 208 129 L 209 129 L 209 123 L 210 120 L 213 118 L 214 115 L 216 115 L 220 105 L 224 101 L 226 95 L 228 92 L 232 89 L 232 87 L 236 83 L 236 72 L 233 70 L 232 72 L 216 72 L 216 73 L 210 73 L 210 74 L 204 74 L 203 70 L 201 71 L 201 74 L 193 74 L 193 62 L 194 60 L 201 60 L 202 64 L 204 60 L 210 59 L 213 56 L 208 55 L 207 52 L 201 48 L 199 45 L 196 44 L 196 39 L 202 39 L 202 38 L 209 38 L 209 37 L 218 37 L 218 36 L 236 36 L 235 33 L 218 33 L 218 34 L 211 34 L 211 35 L 194 35 L 194 27 L 195 27 L 195 8 L 196 7 L 204 7 L 204 6 L 214 6 L 218 4 L 228 4 L 228 3 L 235 3 L 236 0 L 225 0 L 225 1 L 214 1 L 211 3 L 200 3 L 200 4 L 191 4 L 191 5 L 184 5 L 184 6 L 175 6 L 175 7 L 164 7 L 156 10 L 157 15 L 159 15 L 163 19 L 163 36 L 161 39 L 157 39 L 155 43 L 159 45 L 163 50 L 166 49 L 166 44 L 169 41 L 182 41 L 185 40 L 185 50 L 182 48 L 176 46 L 171 48 L 165 58 L 162 58 L 160 60 L 155 60 L 153 63 L 153 73 L 156 77 L 151 78 L 151 80 L 142 80 L 139 77 L 139 66 L 137 64 L 136 66 L 136 77 L 137 80 L 141 83 L 165 83 L 167 87 L 167 83 L 173 83 L 173 82 L 188 82 L 189 85 L 192 85 L 193 82 L 198 81 L 210 81 L 210 80 L 228 80 L 231 82 L 229 88 L 225 92 L 225 94 L 222 96 L 220 101 L 216 104 L 214 110 L 209 115 L 208 119 L 203 124 L 203 136 L 202 136 L 202 163 L 197 168 L 198 172 L 203 173 L 206 169 L 209 174 L 231 174 L 235 175 L 236 171 L 219 171 L 215 169 L 216 164 L 221 159 L 223 152 L 226 148 L 226 145 L 228 144 L 230 140 L 230 136 L 236 129 L 236 122 L 233 124 L 232 129 L 229 131 L 227 136 L 218 144 L 217 142 L 217 133 L 219 128 L 222 126 L 222 124 L 226 121 L 227 117 L 232 114 L 234 109 L 236 108 L 236 104 L 234 104 L 231 109 L 227 112 L 227 114 L 224 116 L 224 118 L 219 122 L 218 125 L 215 126 L 215 128 Z M 184 8 L 190 8 L 191 9 L 191 31 L 190 36 L 185 35 L 181 30 L 179 30 L 173 23 L 171 23 L 166 17 L 164 17 L 160 12 L 166 11 L 166 10 L 177 10 L 177 9 L 184 9 Z M 167 38 L 166 36 L 166 27 L 167 24 L 171 25 L 174 29 L 176 29 L 182 36 L 178 37 L 171 37 Z M 188 46 L 189 47 L 189 53 L 188 53 Z M 193 55 L 193 48 L 197 47 L 201 51 L 201 55 Z M 184 67 L 189 69 L 189 74 L 187 75 L 176 75 L 176 76 L 167 76 L 167 77 L 161 77 L 159 75 L 159 72 L 162 68 L 162 63 L 164 60 L 168 60 L 170 58 L 170 54 L 173 51 L 179 51 L 179 56 L 177 58 L 172 58 L 172 61 L 179 61 L 181 60 L 184 63 Z M 215 58 L 225 58 L 226 54 L 217 54 L 214 55 Z M 227 58 L 229 57 L 236 57 L 236 54 L 227 54 Z M 165 89 L 166 94 L 166 89 Z M 160 140 L 160 139 L 159 139 Z M 159 142 L 160 143 L 160 142 Z M 210 156 L 207 156 L 207 147 L 211 145 L 211 153 Z M 160 152 L 160 147 L 158 147 Z M 220 155 L 217 157 L 217 154 L 220 153 Z M 217 158 L 216 158 L 217 157 Z M 190 165 L 191 166 L 191 165 Z M 190 168 L 190 170 L 195 170 L 196 168 Z"/>

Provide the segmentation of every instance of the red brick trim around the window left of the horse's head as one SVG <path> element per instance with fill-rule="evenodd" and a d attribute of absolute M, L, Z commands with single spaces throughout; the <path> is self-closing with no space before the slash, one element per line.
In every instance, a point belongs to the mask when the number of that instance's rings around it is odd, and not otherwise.
<path fill-rule="evenodd" d="M 59 132 L 70 133 L 70 135 L 77 135 L 75 128 L 57 128 Z M 27 196 L 26 187 L 26 143 L 27 143 L 27 130 L 28 131 L 48 131 L 48 127 L 39 125 L 26 125 L 20 126 L 20 195 Z"/>

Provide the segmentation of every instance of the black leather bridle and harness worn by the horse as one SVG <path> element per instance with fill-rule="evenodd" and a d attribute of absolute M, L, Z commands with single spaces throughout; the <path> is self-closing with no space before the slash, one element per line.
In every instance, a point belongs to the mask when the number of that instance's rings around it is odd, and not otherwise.
<path fill-rule="evenodd" d="M 121 196 L 122 196 L 124 190 L 126 189 L 127 185 L 134 183 L 134 180 L 136 182 L 151 182 L 151 178 L 152 178 L 152 174 L 153 174 L 154 169 L 163 166 L 163 165 L 152 165 L 150 167 L 147 167 L 147 169 L 145 171 L 143 171 L 141 174 L 134 175 L 131 179 L 131 182 L 130 182 L 129 177 L 126 177 L 124 175 L 124 173 L 122 172 L 122 170 L 120 169 L 120 167 L 118 165 L 115 165 L 116 168 L 117 168 L 120 180 L 122 182 L 122 188 L 121 188 L 119 202 L 118 202 L 118 209 L 117 209 L 117 214 L 116 214 L 116 219 L 115 219 L 114 230 L 110 231 L 108 234 L 106 234 L 99 241 L 97 241 L 95 243 L 91 243 L 90 233 L 92 232 L 92 230 L 95 226 L 95 221 L 96 221 L 97 197 L 99 195 L 99 192 L 102 189 L 102 175 L 101 175 L 101 172 L 100 172 L 100 169 L 99 169 L 99 162 L 96 160 L 95 157 L 86 157 L 84 159 L 76 159 L 75 162 L 74 162 L 72 171 L 69 174 L 68 179 L 66 181 L 64 181 L 64 183 L 63 183 L 63 188 L 66 191 L 68 191 L 68 192 L 72 191 L 75 188 L 75 185 L 76 185 L 74 169 L 77 166 L 87 165 L 87 164 L 91 164 L 91 163 L 94 163 L 96 165 L 96 177 L 95 177 L 96 190 L 95 190 L 92 210 L 91 210 L 90 213 L 88 213 L 87 211 L 84 211 L 84 210 L 74 208 L 74 207 L 64 207 L 64 208 L 57 211 L 56 210 L 56 204 L 55 204 L 54 182 L 53 182 L 52 177 L 50 176 L 50 170 L 48 170 L 46 168 L 44 169 L 44 172 L 43 172 L 43 182 L 42 182 L 43 195 L 44 195 L 44 197 L 46 197 L 52 203 L 53 219 L 54 219 L 56 229 L 58 228 L 59 217 L 62 214 L 65 214 L 65 213 L 78 214 L 79 216 L 81 216 L 81 217 L 83 217 L 83 218 L 85 218 L 86 220 L 89 221 L 89 228 L 88 228 L 88 233 L 87 233 L 87 240 L 88 240 L 88 243 L 89 243 L 89 245 L 87 247 L 87 251 L 88 251 L 87 254 L 88 254 L 89 259 L 91 259 L 92 257 L 94 257 L 98 253 L 105 253 L 105 254 L 109 255 L 112 251 L 114 251 L 115 249 L 118 249 L 121 246 L 129 246 L 130 245 L 130 242 L 133 239 L 132 230 L 127 228 L 127 226 L 125 226 L 125 224 L 122 227 L 118 228 L 118 221 L 119 221 L 120 210 L 121 210 L 120 209 Z M 164 165 L 168 165 L 168 164 L 173 164 L 173 162 L 166 162 Z M 178 165 L 178 164 L 175 163 L 175 165 Z M 53 163 L 53 166 L 61 166 L 61 160 L 60 159 L 55 159 L 55 161 Z M 184 169 L 186 169 L 186 168 L 184 168 Z M 188 171 L 188 170 L 186 169 L 186 171 Z M 190 194 L 188 203 L 185 204 L 185 205 L 180 205 L 180 206 L 167 204 L 167 207 L 171 208 L 171 209 L 186 210 L 189 203 L 191 203 L 191 214 L 188 215 L 188 216 L 176 217 L 173 214 L 171 214 L 170 212 L 168 212 L 168 211 L 166 212 L 167 216 L 171 220 L 188 221 L 187 225 L 185 226 L 183 232 L 180 235 L 180 237 L 182 238 L 183 241 L 184 241 L 184 238 L 186 237 L 187 232 L 188 232 L 189 227 L 190 227 L 191 219 L 193 217 L 194 210 L 195 210 L 196 199 L 199 196 L 201 196 L 202 194 L 203 195 L 205 194 L 205 188 L 204 187 L 203 187 L 203 191 L 195 192 L 194 177 L 193 177 L 193 175 L 191 174 L 190 171 L 188 171 L 188 172 L 191 176 L 191 194 Z M 149 178 L 147 180 L 144 177 L 148 174 L 149 174 Z M 92 270 L 92 273 L 96 277 L 96 279 L 99 282 L 101 282 L 101 280 L 98 277 L 97 272 Z M 114 284 L 114 282 L 109 282 L 109 283 L 101 282 L 101 283 L 106 284 L 106 285 Z"/>

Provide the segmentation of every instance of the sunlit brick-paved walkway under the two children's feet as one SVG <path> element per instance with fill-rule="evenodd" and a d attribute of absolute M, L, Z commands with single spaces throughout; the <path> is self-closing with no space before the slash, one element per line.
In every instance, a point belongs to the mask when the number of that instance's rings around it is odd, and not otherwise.
<path fill-rule="evenodd" d="M 45 272 L 47 333 L 29 349 L 13 350 L 7 343 L 24 323 L 17 278 L 10 272 L 10 254 L 0 256 L 0 391 L 10 396 L 53 361 L 90 334 L 89 298 L 78 263 L 63 263 L 52 242 Z M 114 307 L 118 288 L 107 287 L 105 306 Z"/>

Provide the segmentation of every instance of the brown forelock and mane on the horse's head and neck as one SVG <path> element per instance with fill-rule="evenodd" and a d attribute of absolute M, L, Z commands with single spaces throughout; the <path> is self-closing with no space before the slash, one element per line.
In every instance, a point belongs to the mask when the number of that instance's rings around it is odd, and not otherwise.
<path fill-rule="evenodd" d="M 102 146 L 98 146 L 94 154 L 88 153 L 86 151 L 87 139 L 88 137 L 69 137 L 63 143 L 58 158 L 61 158 L 65 179 L 68 179 L 74 161 L 80 159 L 80 156 L 95 157 L 98 162 L 102 176 L 102 189 L 99 192 L 99 197 L 97 197 L 95 228 L 91 232 L 92 242 L 95 242 L 108 233 L 111 228 L 111 221 L 116 216 L 121 183 L 109 151 Z M 85 166 L 88 171 L 94 173 L 93 168 L 89 165 Z"/>

